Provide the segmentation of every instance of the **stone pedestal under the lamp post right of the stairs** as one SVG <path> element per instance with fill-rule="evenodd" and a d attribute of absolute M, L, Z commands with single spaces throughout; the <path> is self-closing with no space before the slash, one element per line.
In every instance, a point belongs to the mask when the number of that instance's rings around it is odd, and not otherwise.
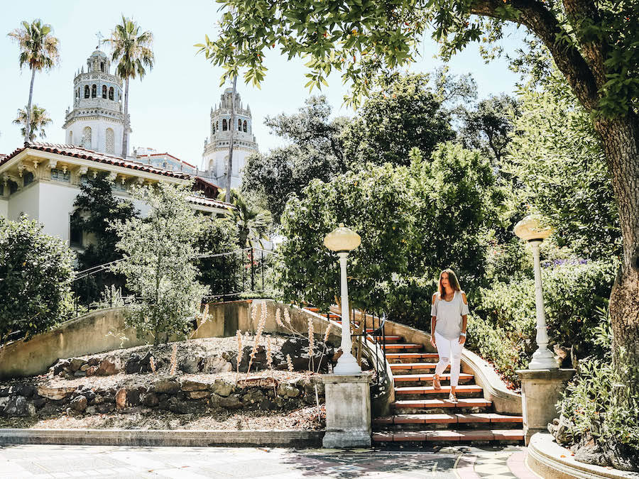
<path fill-rule="evenodd" d="M 547 432 L 548 423 L 559 416 L 556 404 L 564 392 L 566 383 L 574 373 L 574 369 L 517 371 L 521 378 L 523 431 L 526 446 L 532 434 Z"/>

